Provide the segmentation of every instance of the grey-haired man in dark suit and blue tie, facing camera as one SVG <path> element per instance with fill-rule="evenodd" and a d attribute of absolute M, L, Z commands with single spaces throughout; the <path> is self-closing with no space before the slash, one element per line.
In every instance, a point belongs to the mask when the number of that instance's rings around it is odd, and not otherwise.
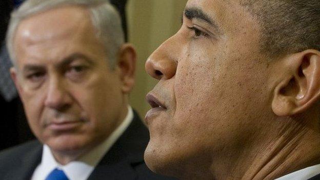
<path fill-rule="evenodd" d="M 105 0 L 30 0 L 13 12 L 11 76 L 37 137 L 0 153 L 0 179 L 166 179 L 128 105 L 135 50 Z"/>

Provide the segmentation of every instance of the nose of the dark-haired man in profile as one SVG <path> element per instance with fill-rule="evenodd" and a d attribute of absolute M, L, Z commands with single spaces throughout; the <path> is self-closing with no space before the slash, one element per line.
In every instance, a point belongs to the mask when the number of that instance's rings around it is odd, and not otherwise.
<path fill-rule="evenodd" d="M 147 59 L 145 68 L 147 73 L 155 79 L 170 79 L 175 75 L 179 48 L 174 39 L 169 38 L 158 49 L 156 49 Z"/>

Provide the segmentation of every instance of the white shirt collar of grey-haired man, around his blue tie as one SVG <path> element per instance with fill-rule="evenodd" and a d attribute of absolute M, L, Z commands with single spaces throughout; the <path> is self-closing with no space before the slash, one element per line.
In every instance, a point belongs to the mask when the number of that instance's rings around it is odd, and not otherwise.
<path fill-rule="evenodd" d="M 119 125 L 102 144 L 93 148 L 89 153 L 85 154 L 77 161 L 70 162 L 65 166 L 58 164 L 55 161 L 50 148 L 47 145 L 44 145 L 42 161 L 33 172 L 31 180 L 45 179 L 55 168 L 63 170 L 70 180 L 87 179 L 94 170 L 94 167 L 129 127 L 132 119 L 133 111 L 132 108 L 128 106 L 128 113 L 122 124 Z"/>

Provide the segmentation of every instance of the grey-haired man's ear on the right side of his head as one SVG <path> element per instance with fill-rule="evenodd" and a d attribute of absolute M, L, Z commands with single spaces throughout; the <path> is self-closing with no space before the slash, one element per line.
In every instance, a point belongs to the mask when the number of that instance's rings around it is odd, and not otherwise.
<path fill-rule="evenodd" d="M 136 51 L 130 44 L 121 46 L 118 53 L 117 68 L 120 71 L 122 91 L 129 93 L 134 86 Z"/>

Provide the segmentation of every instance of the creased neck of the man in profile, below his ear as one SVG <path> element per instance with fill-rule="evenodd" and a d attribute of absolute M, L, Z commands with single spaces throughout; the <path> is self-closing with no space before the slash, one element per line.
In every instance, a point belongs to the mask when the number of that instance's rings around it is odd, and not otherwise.
<path fill-rule="evenodd" d="M 275 179 L 320 164 L 319 114 L 308 114 L 275 117 L 279 124 L 258 133 L 264 136 L 214 158 L 211 179 Z"/>

